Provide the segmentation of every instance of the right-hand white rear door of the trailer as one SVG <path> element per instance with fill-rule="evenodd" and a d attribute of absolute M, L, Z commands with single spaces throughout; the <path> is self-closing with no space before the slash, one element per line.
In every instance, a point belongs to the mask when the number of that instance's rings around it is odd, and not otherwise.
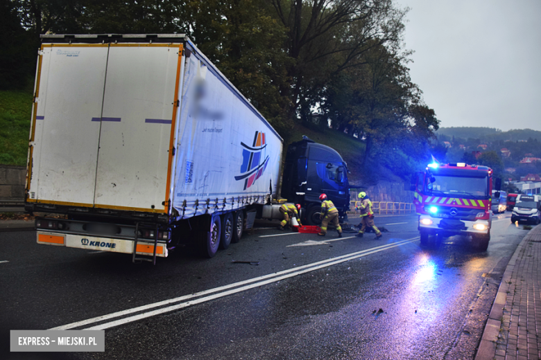
<path fill-rule="evenodd" d="M 95 206 L 164 211 L 179 45 L 111 44 Z"/>

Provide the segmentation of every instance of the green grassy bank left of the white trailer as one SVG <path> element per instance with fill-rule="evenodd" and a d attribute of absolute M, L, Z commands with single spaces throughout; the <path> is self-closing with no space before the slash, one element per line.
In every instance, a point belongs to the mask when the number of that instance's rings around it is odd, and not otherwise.
<path fill-rule="evenodd" d="M 0 163 L 26 165 L 32 93 L 0 91 Z"/>

